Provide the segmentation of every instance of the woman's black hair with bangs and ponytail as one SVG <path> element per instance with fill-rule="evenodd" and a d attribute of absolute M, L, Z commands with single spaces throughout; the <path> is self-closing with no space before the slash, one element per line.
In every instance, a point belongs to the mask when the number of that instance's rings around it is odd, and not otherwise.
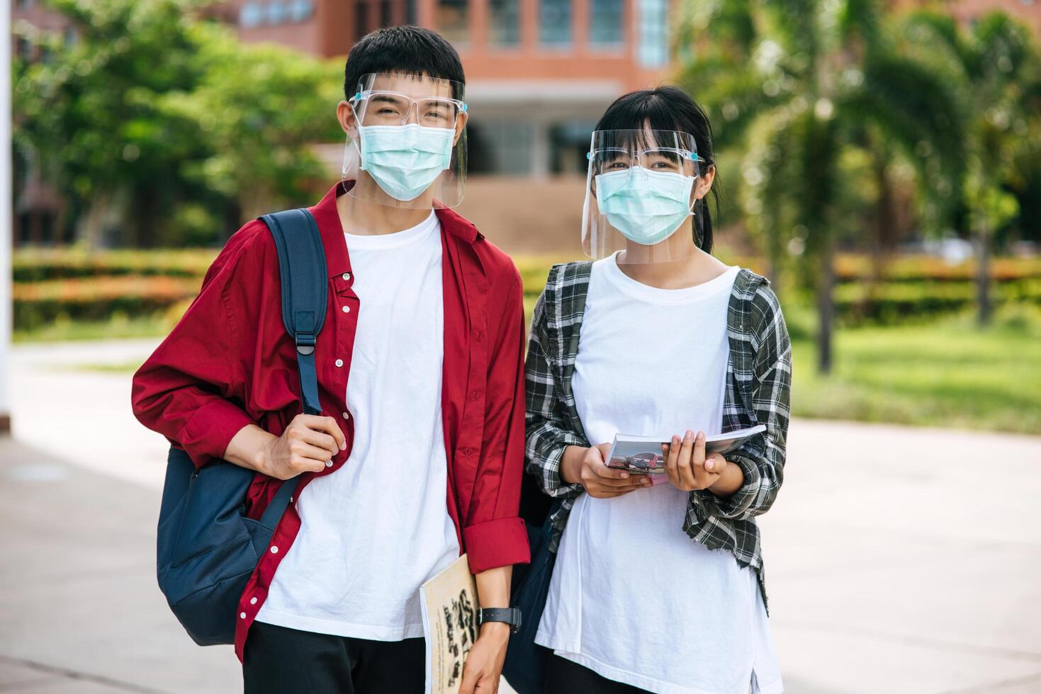
<path fill-rule="evenodd" d="M 712 152 L 712 125 L 705 109 L 697 105 L 685 92 L 675 86 L 659 86 L 656 89 L 640 89 L 618 97 L 607 107 L 596 130 L 676 130 L 693 135 L 697 156 L 704 159 L 701 171 L 715 165 Z M 716 214 L 719 213 L 719 194 L 713 181 L 712 198 Z M 712 216 L 705 199 L 694 204 L 692 225 L 694 243 L 706 253 L 712 252 Z"/>

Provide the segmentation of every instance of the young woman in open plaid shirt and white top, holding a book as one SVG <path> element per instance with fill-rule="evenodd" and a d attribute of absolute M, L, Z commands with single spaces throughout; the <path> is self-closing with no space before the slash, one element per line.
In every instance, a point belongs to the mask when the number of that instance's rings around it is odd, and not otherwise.
<path fill-rule="evenodd" d="M 547 691 L 781 692 L 755 521 L 785 460 L 781 308 L 711 255 L 712 131 L 687 95 L 621 97 L 588 157 L 596 260 L 550 272 L 527 361 L 527 469 L 559 502 L 535 638 L 553 651 Z M 706 436 L 755 425 L 706 454 Z M 665 472 L 608 467 L 618 433 L 668 441 Z"/>

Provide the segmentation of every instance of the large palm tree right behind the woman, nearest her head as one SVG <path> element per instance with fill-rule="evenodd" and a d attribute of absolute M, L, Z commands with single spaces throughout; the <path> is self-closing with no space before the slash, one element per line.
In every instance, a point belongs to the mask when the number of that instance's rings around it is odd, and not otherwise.
<path fill-rule="evenodd" d="M 695 56 L 680 81 L 709 110 L 717 146 L 750 153 L 766 238 L 805 229 L 817 366 L 827 374 L 836 242 L 859 226 L 841 213 L 839 157 L 885 143 L 915 162 L 931 189 L 953 190 L 963 166 L 954 97 L 926 67 L 893 51 L 874 0 L 713 0 L 688 7 L 678 38 L 681 54 Z M 931 156 L 920 156 L 920 143 Z M 782 245 L 767 246 L 776 255 Z M 779 263 L 771 258 L 773 272 Z"/>

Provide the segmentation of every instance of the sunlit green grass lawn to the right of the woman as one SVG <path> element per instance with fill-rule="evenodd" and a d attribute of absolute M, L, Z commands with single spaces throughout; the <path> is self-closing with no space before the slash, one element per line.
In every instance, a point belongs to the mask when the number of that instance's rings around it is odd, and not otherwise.
<path fill-rule="evenodd" d="M 794 331 L 793 331 L 794 332 Z M 795 416 L 1041 434 L 1041 318 L 1005 312 L 928 325 L 840 330 L 830 377 L 816 349 L 793 340 Z"/>

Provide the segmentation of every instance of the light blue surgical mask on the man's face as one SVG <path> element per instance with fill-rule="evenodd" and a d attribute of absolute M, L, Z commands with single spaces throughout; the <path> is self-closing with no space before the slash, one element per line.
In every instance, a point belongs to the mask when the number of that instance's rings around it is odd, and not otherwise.
<path fill-rule="evenodd" d="M 363 125 L 361 169 L 395 200 L 414 200 L 449 168 L 454 128 Z"/>

